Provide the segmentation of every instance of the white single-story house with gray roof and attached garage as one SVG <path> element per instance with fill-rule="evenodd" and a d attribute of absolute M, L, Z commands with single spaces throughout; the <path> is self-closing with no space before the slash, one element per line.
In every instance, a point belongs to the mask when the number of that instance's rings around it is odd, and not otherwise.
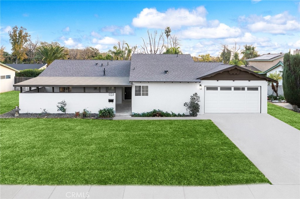
<path fill-rule="evenodd" d="M 200 114 L 267 113 L 267 81 L 276 82 L 237 65 L 194 62 L 189 54 L 133 54 L 131 61 L 55 60 L 38 77 L 14 86 L 38 87 L 20 93 L 20 113 L 57 113 L 62 100 L 67 113 L 97 113 L 131 100 L 136 113 L 188 114 L 183 104 L 194 93 Z"/>

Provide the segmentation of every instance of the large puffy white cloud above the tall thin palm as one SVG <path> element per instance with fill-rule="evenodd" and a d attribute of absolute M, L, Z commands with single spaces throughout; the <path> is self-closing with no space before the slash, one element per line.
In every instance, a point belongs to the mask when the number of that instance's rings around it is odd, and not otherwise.
<path fill-rule="evenodd" d="M 203 26 L 206 25 L 206 14 L 204 6 L 199 6 L 191 11 L 184 8 L 170 8 L 166 12 L 159 12 L 156 8 L 144 8 L 132 20 L 132 25 L 161 29 L 166 26 L 170 26 L 171 29 L 179 29 L 182 26 Z"/>

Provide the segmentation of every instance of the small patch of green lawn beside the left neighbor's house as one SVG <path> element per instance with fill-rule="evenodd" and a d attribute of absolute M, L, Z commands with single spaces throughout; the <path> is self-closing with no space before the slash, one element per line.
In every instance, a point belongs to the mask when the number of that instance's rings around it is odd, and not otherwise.
<path fill-rule="evenodd" d="M 13 110 L 19 106 L 19 91 L 0 93 L 0 114 Z"/>

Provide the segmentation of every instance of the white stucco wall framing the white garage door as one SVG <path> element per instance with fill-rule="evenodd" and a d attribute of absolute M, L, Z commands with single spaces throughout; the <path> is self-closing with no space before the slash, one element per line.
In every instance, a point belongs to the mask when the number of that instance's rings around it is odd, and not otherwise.
<path fill-rule="evenodd" d="M 261 86 L 261 113 L 267 113 L 267 90 L 268 82 L 266 81 L 232 81 L 232 80 L 202 80 L 202 89 L 198 91 L 200 95 L 200 113 L 204 114 L 204 86 Z"/>

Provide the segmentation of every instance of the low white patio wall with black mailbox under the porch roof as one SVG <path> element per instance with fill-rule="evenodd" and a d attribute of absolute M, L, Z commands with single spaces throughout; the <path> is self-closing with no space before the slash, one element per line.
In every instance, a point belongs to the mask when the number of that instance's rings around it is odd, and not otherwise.
<path fill-rule="evenodd" d="M 108 102 L 113 99 L 114 102 Z M 109 93 L 20 93 L 20 113 L 41 113 L 41 108 L 49 113 L 58 113 L 57 103 L 67 102 L 67 113 L 82 111 L 84 108 L 92 113 L 98 113 L 99 109 L 113 107 L 116 110 L 116 94 Z"/>

